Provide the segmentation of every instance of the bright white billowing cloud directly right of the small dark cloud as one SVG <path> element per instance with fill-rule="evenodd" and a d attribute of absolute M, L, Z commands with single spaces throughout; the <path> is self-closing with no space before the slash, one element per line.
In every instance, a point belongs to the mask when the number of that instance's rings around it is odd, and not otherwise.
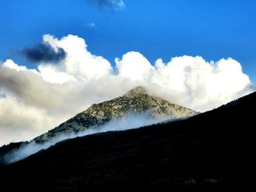
<path fill-rule="evenodd" d="M 105 77 L 112 72 L 110 62 L 102 56 L 92 55 L 87 49 L 84 39 L 69 35 L 58 40 L 50 35 L 43 37 L 52 47 L 61 47 L 67 57 L 59 66 L 59 70 L 79 80 L 91 80 Z M 55 64 L 56 66 L 56 64 Z"/>

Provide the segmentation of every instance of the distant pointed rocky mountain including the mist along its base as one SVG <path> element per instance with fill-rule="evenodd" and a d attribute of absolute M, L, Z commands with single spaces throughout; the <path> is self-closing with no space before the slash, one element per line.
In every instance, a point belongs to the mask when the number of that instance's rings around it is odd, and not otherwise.
<path fill-rule="evenodd" d="M 0 147 L 0 164 L 20 161 L 39 150 L 64 139 L 109 130 L 124 130 L 159 123 L 163 120 L 187 118 L 197 112 L 152 96 L 146 88 L 133 88 L 124 96 L 93 104 L 74 118 L 61 123 L 30 142 L 12 143 Z M 115 126 L 115 128 L 113 128 Z"/>

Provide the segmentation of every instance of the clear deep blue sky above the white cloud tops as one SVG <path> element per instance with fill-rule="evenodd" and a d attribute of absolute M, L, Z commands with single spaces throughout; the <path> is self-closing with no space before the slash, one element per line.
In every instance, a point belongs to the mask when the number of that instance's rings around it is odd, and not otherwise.
<path fill-rule="evenodd" d="M 117 10 L 89 0 L 0 0 L 0 60 L 12 58 L 34 67 L 19 50 L 41 42 L 43 34 L 59 38 L 75 34 L 86 39 L 91 53 L 112 63 L 131 50 L 151 64 L 177 55 L 200 55 L 207 61 L 232 57 L 256 82 L 255 0 L 124 0 L 124 4 Z"/>

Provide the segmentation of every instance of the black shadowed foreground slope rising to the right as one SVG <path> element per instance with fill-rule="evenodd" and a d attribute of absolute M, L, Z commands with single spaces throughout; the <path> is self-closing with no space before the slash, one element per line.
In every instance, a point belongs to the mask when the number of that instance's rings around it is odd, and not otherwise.
<path fill-rule="evenodd" d="M 255 188 L 256 93 L 187 120 L 67 140 L 0 167 L 0 191 Z"/>

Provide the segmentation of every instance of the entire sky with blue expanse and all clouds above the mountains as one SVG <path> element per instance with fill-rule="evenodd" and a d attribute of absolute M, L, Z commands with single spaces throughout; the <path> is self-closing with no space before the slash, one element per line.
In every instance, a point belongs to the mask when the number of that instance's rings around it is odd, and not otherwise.
<path fill-rule="evenodd" d="M 254 91 L 255 9 L 254 0 L 0 0 L 0 145 L 135 85 L 198 111 Z"/>

